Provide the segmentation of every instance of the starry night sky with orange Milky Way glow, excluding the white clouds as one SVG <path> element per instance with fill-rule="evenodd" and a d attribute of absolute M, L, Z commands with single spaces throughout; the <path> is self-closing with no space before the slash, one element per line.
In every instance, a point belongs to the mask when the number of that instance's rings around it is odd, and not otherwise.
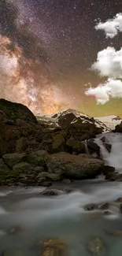
<path fill-rule="evenodd" d="M 23 58 L 18 61 L 19 76 L 26 78 L 26 82 L 28 76 L 33 80 L 28 80 L 28 86 L 26 84 L 26 90 L 18 101 L 32 110 L 36 105 L 36 111 L 42 108 L 44 113 L 68 106 L 96 117 L 108 114 L 122 116 L 122 99 L 96 105 L 94 98 L 84 93 L 87 83 L 94 87 L 102 81 L 97 73 L 90 70 L 98 51 L 107 46 L 119 50 L 122 43 L 122 33 L 114 39 L 105 39 L 105 35 L 96 31 L 94 26 L 98 19 L 105 22 L 120 12 L 121 0 L 1 0 L 2 39 L 7 37 L 10 41 L 9 56 L 12 50 L 13 54 L 20 56 L 17 47 L 21 50 Z M 0 45 L 5 48 L 3 40 Z M 8 50 L 8 46 L 6 48 Z M 23 72 L 24 69 L 27 71 Z M 6 87 L 6 76 L 3 80 Z M 16 90 L 9 87 L 13 91 L 10 99 L 17 94 L 17 83 L 15 87 Z M 8 98 L 6 91 L 4 97 Z M 35 97 L 33 105 L 32 96 L 26 100 L 29 93 Z"/>

